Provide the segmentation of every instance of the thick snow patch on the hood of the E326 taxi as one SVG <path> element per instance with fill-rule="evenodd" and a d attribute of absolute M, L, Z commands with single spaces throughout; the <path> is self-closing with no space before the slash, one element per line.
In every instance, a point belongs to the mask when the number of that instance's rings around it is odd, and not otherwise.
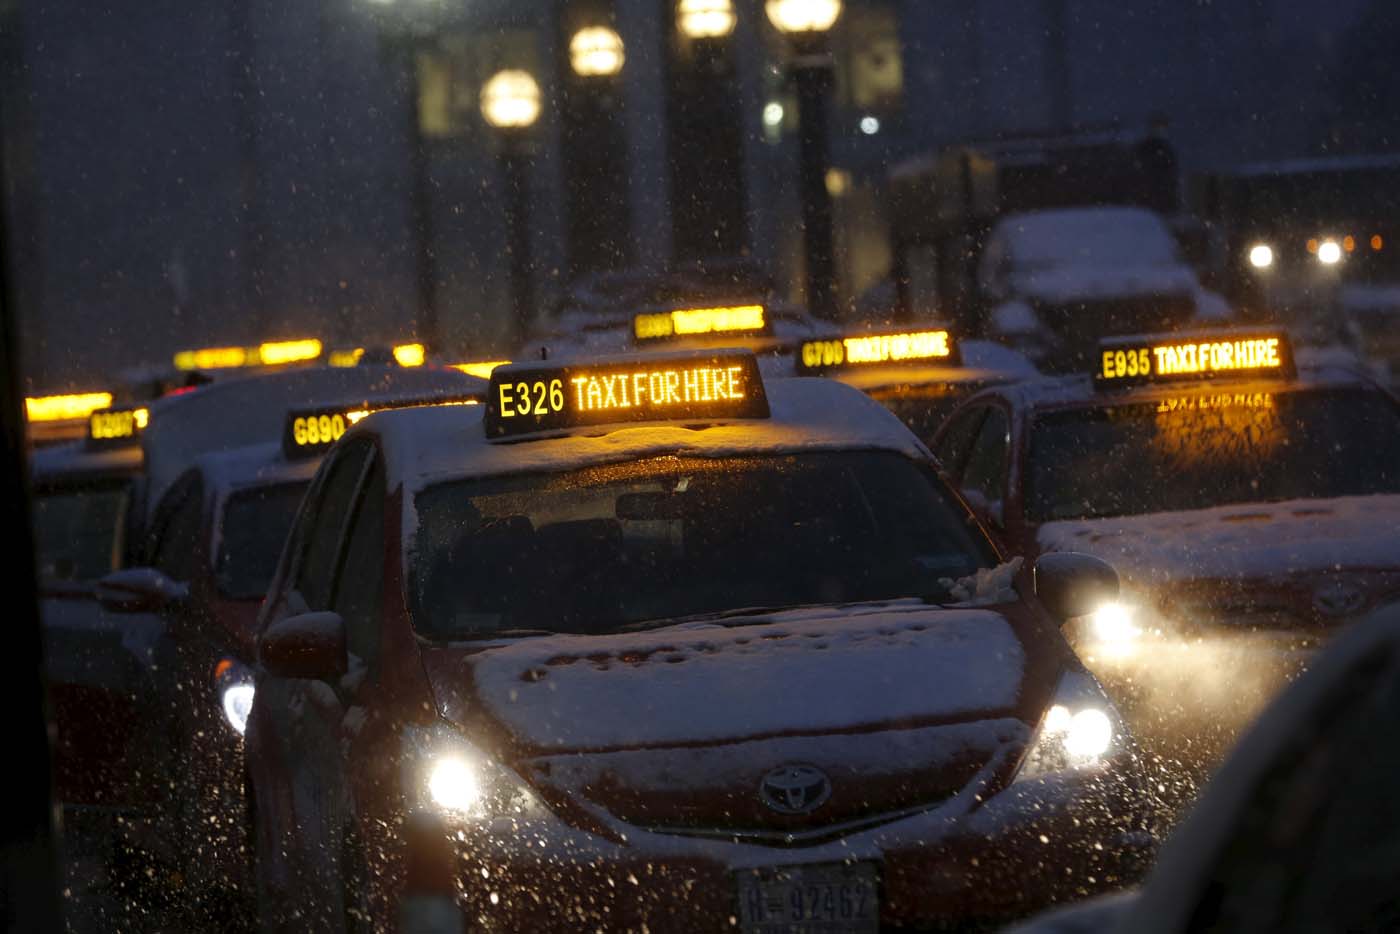
<path fill-rule="evenodd" d="M 822 734 L 983 720 L 1014 709 L 1025 653 L 990 611 L 921 604 L 773 613 L 487 650 L 479 702 L 543 751 Z"/>

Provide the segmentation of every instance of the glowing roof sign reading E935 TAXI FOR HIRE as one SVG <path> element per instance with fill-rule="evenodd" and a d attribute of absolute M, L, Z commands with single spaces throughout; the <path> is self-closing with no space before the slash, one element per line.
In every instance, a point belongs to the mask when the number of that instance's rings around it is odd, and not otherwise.
<path fill-rule="evenodd" d="M 1282 330 L 1215 330 L 1138 335 L 1099 342 L 1093 384 L 1099 389 L 1221 377 L 1291 379 L 1294 347 Z"/>

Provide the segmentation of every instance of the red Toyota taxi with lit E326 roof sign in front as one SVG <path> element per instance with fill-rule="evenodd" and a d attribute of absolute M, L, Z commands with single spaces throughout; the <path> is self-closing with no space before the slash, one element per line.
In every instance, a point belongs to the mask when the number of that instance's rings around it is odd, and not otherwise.
<path fill-rule="evenodd" d="M 473 930 L 857 934 L 1121 885 L 1148 793 L 1058 630 L 1117 578 L 1018 567 L 895 416 L 750 353 L 370 416 L 259 620 L 262 921 L 392 930 L 435 878 Z"/>

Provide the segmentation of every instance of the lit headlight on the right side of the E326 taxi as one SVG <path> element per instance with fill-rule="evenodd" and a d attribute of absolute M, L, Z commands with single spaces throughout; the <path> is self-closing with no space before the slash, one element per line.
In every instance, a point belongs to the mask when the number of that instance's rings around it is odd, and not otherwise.
<path fill-rule="evenodd" d="M 1119 711 L 1088 672 L 1060 679 L 1016 781 L 1099 766 L 1127 745 Z"/>

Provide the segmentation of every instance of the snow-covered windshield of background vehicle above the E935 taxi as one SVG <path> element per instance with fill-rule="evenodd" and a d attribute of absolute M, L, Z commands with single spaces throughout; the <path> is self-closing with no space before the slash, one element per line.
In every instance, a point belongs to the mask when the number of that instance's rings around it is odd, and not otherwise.
<path fill-rule="evenodd" d="M 1165 266 L 1179 262 L 1176 241 L 1152 211 L 1092 207 L 1033 211 L 1001 221 L 1018 269 L 1057 266 Z"/>

